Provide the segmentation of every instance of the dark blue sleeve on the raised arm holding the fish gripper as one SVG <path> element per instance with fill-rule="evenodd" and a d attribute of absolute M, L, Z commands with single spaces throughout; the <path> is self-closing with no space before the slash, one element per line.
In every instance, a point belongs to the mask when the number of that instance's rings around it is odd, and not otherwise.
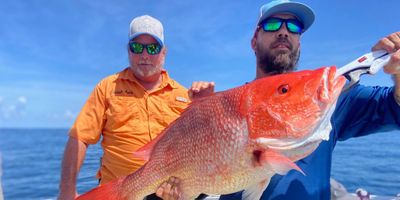
<path fill-rule="evenodd" d="M 338 140 L 399 129 L 393 87 L 356 85 L 339 98 L 332 124 Z"/>

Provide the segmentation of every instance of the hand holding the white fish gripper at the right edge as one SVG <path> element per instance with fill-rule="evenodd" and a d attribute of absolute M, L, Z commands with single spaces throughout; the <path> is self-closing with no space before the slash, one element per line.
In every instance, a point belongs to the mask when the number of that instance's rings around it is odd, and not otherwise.
<path fill-rule="evenodd" d="M 400 75 L 400 32 L 382 38 L 372 47 L 372 50 L 386 50 L 391 53 L 391 58 L 383 70 L 387 74 Z"/>

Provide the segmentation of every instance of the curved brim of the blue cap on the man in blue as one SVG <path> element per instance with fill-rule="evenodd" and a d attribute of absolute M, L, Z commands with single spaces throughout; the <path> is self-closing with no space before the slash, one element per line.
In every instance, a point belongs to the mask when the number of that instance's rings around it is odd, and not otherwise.
<path fill-rule="evenodd" d="M 290 13 L 295 15 L 304 25 L 303 32 L 310 28 L 315 19 L 313 10 L 307 5 L 298 2 L 284 2 L 263 12 L 257 24 L 260 24 L 268 17 L 278 13 Z"/>

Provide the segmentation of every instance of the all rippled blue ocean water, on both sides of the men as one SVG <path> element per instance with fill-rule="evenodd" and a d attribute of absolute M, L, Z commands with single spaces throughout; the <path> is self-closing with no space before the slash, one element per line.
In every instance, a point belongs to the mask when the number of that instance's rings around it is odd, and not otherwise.
<path fill-rule="evenodd" d="M 66 129 L 0 129 L 4 199 L 56 199 Z M 102 150 L 89 146 L 78 178 L 83 193 L 97 185 Z M 400 193 L 400 132 L 379 133 L 339 142 L 332 177 L 349 192 L 364 188 L 372 194 Z"/>

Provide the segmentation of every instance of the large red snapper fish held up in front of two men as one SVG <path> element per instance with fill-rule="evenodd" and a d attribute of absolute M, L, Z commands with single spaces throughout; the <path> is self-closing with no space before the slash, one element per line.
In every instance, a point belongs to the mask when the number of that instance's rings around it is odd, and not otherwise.
<path fill-rule="evenodd" d="M 78 199 L 142 200 L 169 177 L 180 179 L 180 199 L 244 190 L 259 199 L 274 174 L 329 139 L 330 118 L 345 84 L 325 67 L 258 79 L 195 100 L 135 155 L 147 163 Z"/>

